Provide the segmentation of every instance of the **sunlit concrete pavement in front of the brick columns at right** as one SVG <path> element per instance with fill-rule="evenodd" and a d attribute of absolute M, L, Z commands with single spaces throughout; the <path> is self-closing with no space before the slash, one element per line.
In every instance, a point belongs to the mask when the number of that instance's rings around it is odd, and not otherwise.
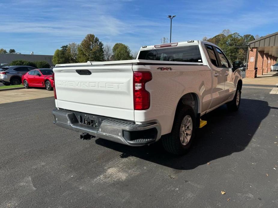
<path fill-rule="evenodd" d="M 278 84 L 278 72 L 270 72 L 257 78 L 243 78 L 243 85 L 276 85 Z"/>

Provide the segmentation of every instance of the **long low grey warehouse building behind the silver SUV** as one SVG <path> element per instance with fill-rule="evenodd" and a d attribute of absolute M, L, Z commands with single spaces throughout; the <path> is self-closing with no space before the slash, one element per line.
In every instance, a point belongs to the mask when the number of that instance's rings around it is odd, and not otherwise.
<path fill-rule="evenodd" d="M 52 58 L 53 55 L 3 53 L 0 54 L 0 65 L 9 64 L 15 60 L 25 60 L 25 61 L 46 61 L 48 64 L 50 64 L 50 66 L 53 66 Z"/>

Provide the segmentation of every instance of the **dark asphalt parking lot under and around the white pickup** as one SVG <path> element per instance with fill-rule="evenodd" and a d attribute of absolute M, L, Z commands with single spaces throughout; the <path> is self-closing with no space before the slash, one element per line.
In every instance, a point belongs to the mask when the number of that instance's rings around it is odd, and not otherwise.
<path fill-rule="evenodd" d="M 278 97 L 243 88 L 191 151 L 128 147 L 54 126 L 54 98 L 0 104 L 0 207 L 278 207 Z M 221 194 L 224 191 L 225 194 Z"/>

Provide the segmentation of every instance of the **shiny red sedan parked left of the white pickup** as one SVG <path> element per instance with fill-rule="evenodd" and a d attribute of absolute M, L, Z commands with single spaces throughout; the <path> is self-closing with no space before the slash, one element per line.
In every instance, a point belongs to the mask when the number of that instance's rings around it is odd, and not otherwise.
<path fill-rule="evenodd" d="M 21 79 L 26 89 L 39 87 L 53 90 L 52 74 L 52 69 L 34 69 L 24 74 Z"/>

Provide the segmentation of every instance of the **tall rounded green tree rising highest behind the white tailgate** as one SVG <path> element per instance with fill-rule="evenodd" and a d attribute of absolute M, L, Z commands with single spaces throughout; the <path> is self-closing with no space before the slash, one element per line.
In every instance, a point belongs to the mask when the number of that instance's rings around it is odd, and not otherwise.
<path fill-rule="evenodd" d="M 87 34 L 77 49 L 78 62 L 103 61 L 103 44 L 94 34 Z"/>

